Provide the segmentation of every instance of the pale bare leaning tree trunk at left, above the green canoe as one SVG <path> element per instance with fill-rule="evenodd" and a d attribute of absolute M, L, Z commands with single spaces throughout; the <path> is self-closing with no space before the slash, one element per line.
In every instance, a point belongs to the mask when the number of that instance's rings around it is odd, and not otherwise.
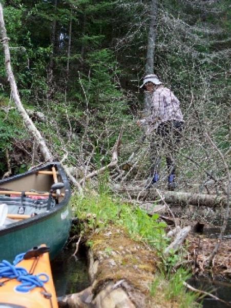
<path fill-rule="evenodd" d="M 24 124 L 28 131 L 32 134 L 32 136 L 35 138 L 35 140 L 38 143 L 38 146 L 43 153 L 45 161 L 52 161 L 53 157 L 48 149 L 46 142 L 44 138 L 41 136 L 40 132 L 37 130 L 35 127 L 34 123 L 32 120 L 29 118 L 29 115 L 27 114 L 26 110 L 23 107 L 23 104 L 20 100 L 18 90 L 17 90 L 17 85 L 14 79 L 13 71 L 11 68 L 11 62 L 10 62 L 10 50 L 8 46 L 8 41 L 9 38 L 7 37 L 7 32 L 5 28 L 5 23 L 4 23 L 4 16 L 3 16 L 3 6 L 0 3 L 0 29 L 2 32 L 2 42 L 3 42 L 3 48 L 4 48 L 4 53 L 5 53 L 5 65 L 6 65 L 6 71 L 7 71 L 7 76 L 8 76 L 8 81 L 10 83 L 10 88 L 12 92 L 12 97 L 15 102 L 16 108 L 19 112 L 20 115 L 23 117 Z"/>

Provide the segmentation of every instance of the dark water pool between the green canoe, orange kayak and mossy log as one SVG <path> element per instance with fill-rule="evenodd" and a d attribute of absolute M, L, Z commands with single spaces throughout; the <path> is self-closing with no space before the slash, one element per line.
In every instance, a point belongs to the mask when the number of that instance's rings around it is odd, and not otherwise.
<path fill-rule="evenodd" d="M 72 256 L 74 251 L 75 247 L 64 249 L 51 262 L 57 297 L 78 293 L 90 285 L 86 255 L 78 253 L 75 258 Z"/>

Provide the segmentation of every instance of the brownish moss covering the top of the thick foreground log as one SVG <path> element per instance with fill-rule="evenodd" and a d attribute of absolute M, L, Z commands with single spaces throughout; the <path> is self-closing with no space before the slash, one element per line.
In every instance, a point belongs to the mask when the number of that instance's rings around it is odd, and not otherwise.
<path fill-rule="evenodd" d="M 94 259 L 99 260 L 95 289 L 105 281 L 125 279 L 134 288 L 149 293 L 158 260 L 154 251 L 148 251 L 143 243 L 132 240 L 124 229 L 113 225 L 95 232 L 89 241 L 93 242 Z"/>

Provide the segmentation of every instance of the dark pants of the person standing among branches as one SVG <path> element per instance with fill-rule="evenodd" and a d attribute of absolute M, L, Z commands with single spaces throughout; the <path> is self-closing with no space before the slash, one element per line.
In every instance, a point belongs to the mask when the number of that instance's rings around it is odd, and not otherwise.
<path fill-rule="evenodd" d="M 177 149 L 180 142 L 183 128 L 184 122 L 175 120 L 163 122 L 157 127 L 157 134 L 151 143 L 152 175 L 154 175 L 155 172 L 158 173 L 161 162 L 161 148 L 163 148 L 165 153 L 167 171 L 169 175 L 175 175 L 176 166 L 174 164 L 174 150 Z"/>

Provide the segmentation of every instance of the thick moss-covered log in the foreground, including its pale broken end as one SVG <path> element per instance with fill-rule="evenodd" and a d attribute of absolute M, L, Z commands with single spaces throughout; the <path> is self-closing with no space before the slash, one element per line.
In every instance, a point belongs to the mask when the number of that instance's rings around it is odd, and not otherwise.
<path fill-rule="evenodd" d="M 91 286 L 59 302 L 68 308 L 177 307 L 163 296 L 150 296 L 160 260 L 155 251 L 134 241 L 117 226 L 94 233 L 88 241 Z"/>

